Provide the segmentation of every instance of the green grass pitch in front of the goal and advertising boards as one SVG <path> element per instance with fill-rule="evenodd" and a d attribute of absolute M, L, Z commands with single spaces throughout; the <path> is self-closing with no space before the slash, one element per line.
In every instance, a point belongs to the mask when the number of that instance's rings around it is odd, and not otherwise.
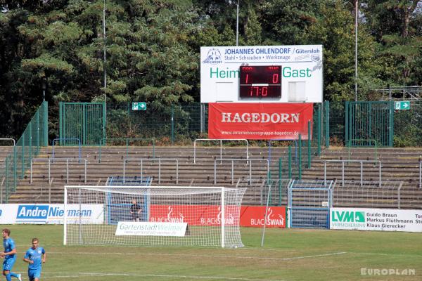
<path fill-rule="evenodd" d="M 23 280 L 32 237 L 48 254 L 41 275 L 48 281 L 422 280 L 422 233 L 267 228 L 260 247 L 262 229 L 242 228 L 245 247 L 221 249 L 63 246 L 63 226 L 1 228 L 11 229 L 18 249 L 13 270 Z"/>

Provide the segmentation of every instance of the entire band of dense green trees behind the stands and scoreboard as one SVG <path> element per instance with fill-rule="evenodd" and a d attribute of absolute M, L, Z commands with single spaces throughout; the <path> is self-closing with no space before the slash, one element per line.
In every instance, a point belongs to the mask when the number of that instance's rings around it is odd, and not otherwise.
<path fill-rule="evenodd" d="M 20 136 L 43 84 L 53 126 L 59 101 L 198 102 L 200 46 L 236 44 L 237 4 L 239 45 L 323 44 L 324 98 L 354 100 L 354 1 L 106 0 L 106 34 L 103 4 L 0 0 L 2 135 Z M 359 1 L 357 84 L 359 100 L 422 85 L 420 1 Z"/>

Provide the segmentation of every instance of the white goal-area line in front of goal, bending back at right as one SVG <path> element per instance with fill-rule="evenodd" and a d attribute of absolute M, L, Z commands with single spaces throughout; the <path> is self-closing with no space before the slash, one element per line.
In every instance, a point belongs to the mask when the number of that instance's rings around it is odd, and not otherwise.
<path fill-rule="evenodd" d="M 51 252 L 49 254 L 61 254 L 58 252 Z M 75 252 L 75 253 L 68 253 L 68 254 L 81 254 L 81 255 L 98 255 L 98 254 L 106 254 L 106 255 L 122 255 L 122 256 L 193 256 L 193 257 L 205 257 L 205 258 L 226 258 L 226 259 L 261 259 L 261 260 L 268 260 L 268 261 L 290 261 L 295 259 L 311 259 L 311 258 L 318 258 L 320 256 L 335 256 L 340 254 L 347 254 L 346 251 L 338 251 L 335 253 L 328 253 L 328 254 L 318 254 L 318 255 L 311 255 L 311 256 L 294 256 L 292 258 L 269 258 L 266 256 L 227 256 L 227 255 L 200 255 L 200 254 L 160 254 L 160 253 L 90 253 L 90 252 Z"/>

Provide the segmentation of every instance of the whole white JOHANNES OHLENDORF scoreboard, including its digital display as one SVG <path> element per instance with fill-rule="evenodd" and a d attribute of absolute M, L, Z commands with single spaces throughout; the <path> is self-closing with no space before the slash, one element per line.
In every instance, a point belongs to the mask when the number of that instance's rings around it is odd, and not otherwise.
<path fill-rule="evenodd" d="M 321 103 L 322 45 L 200 48 L 201 103 Z"/>

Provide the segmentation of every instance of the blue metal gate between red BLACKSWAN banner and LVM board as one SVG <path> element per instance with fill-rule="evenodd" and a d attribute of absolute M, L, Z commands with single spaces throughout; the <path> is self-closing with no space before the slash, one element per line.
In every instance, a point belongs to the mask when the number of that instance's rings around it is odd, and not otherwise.
<path fill-rule="evenodd" d="M 329 228 L 333 181 L 293 180 L 288 187 L 290 228 Z"/>

